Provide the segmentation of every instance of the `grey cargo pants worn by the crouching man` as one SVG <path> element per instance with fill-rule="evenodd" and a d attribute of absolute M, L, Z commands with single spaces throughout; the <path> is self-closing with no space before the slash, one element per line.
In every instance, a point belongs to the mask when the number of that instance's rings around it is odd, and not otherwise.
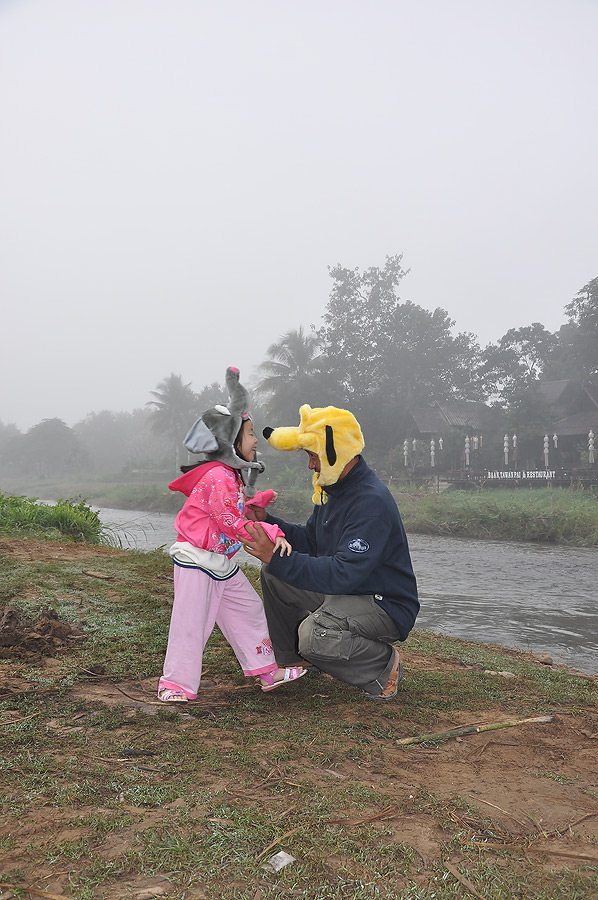
<path fill-rule="evenodd" d="M 261 571 L 264 609 L 276 661 L 281 666 L 307 660 L 334 678 L 368 694 L 382 693 L 399 631 L 372 595 L 303 591 Z"/>

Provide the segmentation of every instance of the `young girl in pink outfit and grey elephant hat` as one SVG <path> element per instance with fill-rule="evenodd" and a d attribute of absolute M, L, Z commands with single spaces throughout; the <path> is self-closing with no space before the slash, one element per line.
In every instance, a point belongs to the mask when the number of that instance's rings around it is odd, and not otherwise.
<path fill-rule="evenodd" d="M 185 439 L 189 450 L 202 454 L 202 462 L 182 466 L 184 474 L 169 485 L 188 499 L 175 519 L 178 536 L 170 548 L 174 605 L 158 685 L 158 697 L 164 702 L 197 697 L 203 651 L 215 625 L 233 648 L 243 673 L 259 675 L 263 691 L 306 674 L 301 667 L 276 663 L 262 601 L 232 559 L 241 548 L 239 539 L 251 540 L 245 505 L 263 508 L 276 496 L 274 491 L 249 500 L 244 496 L 242 469 L 263 470 L 263 465 L 254 461 L 257 438 L 238 369 L 229 368 L 226 380 L 229 406 L 207 410 Z M 276 552 L 290 553 L 277 525 L 260 524 Z"/>

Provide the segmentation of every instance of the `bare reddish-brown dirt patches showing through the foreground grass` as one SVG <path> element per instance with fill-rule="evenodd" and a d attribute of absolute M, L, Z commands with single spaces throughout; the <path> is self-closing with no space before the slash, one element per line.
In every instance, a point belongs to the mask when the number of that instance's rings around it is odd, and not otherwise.
<path fill-rule="evenodd" d="M 79 560 L 85 565 L 86 558 L 93 559 L 97 567 L 98 556 L 119 553 L 109 548 L 89 548 L 84 545 L 41 545 L 47 560 L 69 558 Z M 36 544 L 39 553 L 40 545 Z M 18 556 L 27 555 L 26 542 L 0 542 L 0 550 Z M 91 565 L 91 562 L 90 562 Z M 100 573 L 96 573 L 100 574 Z M 76 630 L 68 623 L 59 621 L 51 610 L 44 610 L 36 621 L 17 615 L 8 608 L 0 616 L 0 657 L 11 659 L 15 667 L 2 675 L 0 690 L 4 696 L 17 696 L 33 687 L 26 679 L 20 677 L 19 663 L 36 662 L 52 668 L 55 654 L 79 638 Z M 509 651 L 505 651 L 509 654 Z M 521 656 L 515 651 L 513 657 Z M 451 658 L 418 654 L 406 646 L 403 662 L 407 673 L 410 671 L 432 671 L 450 673 L 462 672 L 468 668 L 465 664 Z M 4 668 L 4 667 L 3 667 Z M 163 708 L 155 697 L 156 679 L 141 682 L 111 683 L 102 671 L 90 671 L 90 681 L 78 684 L 72 693 L 81 699 L 96 701 L 107 706 L 121 706 L 135 710 L 142 709 L 155 714 Z M 312 676 L 308 676 L 312 677 Z M 496 677 L 502 677 L 496 675 Z M 325 697 L 328 676 L 316 676 L 314 685 Z M 222 704 L 234 703 L 240 690 L 255 690 L 253 685 L 238 687 L 232 683 L 205 680 L 197 701 L 177 709 L 178 722 L 181 729 L 201 728 L 201 739 L 204 742 L 223 742 L 223 734 L 219 729 L 213 733 L 209 728 L 209 714 Z M 400 702 L 400 699 L 399 701 Z M 339 717 L 344 721 L 358 721 L 363 718 L 361 707 L 350 706 L 339 710 Z M 538 715 L 546 712 L 538 710 Z M 485 733 L 474 733 L 447 740 L 438 745 L 414 745 L 405 748 L 396 740 L 380 741 L 371 738 L 372 753 L 367 759 L 359 759 L 353 763 L 350 755 L 337 740 L 339 764 L 332 769 L 322 769 L 312 765 L 308 758 L 293 763 L 293 771 L 288 767 L 271 769 L 264 766 L 263 789 L 266 789 L 269 802 L 273 806 L 273 814 L 284 815 L 285 807 L 293 802 L 293 785 L 309 782 L 314 787 L 326 791 L 326 786 L 334 779 L 348 779 L 352 784 L 363 784 L 368 788 L 375 787 L 386 796 L 387 803 L 379 810 L 358 819 L 351 811 L 339 810 L 338 822 L 347 829 L 354 828 L 364 821 L 377 823 L 380 828 L 390 828 L 393 840 L 403 842 L 412 847 L 421 859 L 424 870 L 429 870 L 434 861 L 441 856 L 441 845 L 446 844 L 453 832 L 465 833 L 470 840 L 478 842 L 479 853 L 486 857 L 494 855 L 496 864 L 511 865 L 501 856 L 505 847 L 519 851 L 521 859 L 533 858 L 550 870 L 577 868 L 580 866 L 598 866 L 598 709 L 596 708 L 558 708 L 551 709 L 552 719 L 542 724 L 526 724 L 516 728 L 504 728 Z M 333 713 L 334 714 L 334 713 Z M 381 717 L 375 705 L 367 709 L 368 722 L 375 729 L 377 720 L 385 727 L 388 720 Z M 471 715 L 471 714 L 470 714 Z M 458 728 L 469 724 L 496 723 L 505 721 L 509 716 L 501 708 L 485 709 L 476 715 L 475 721 L 469 722 L 464 716 L 451 714 L 439 721 L 437 731 Z M 4 724 L 4 723 L 2 723 Z M 241 719 L 240 724 L 243 724 Z M 251 726 L 251 715 L 247 716 L 247 727 Z M 408 723 L 407 723 L 408 724 Z M 86 717 L 81 715 L 78 721 L 57 721 L 56 728 L 86 730 Z M 406 732 L 409 733 L 409 732 Z M 400 739 L 404 733 L 397 733 Z M 346 739 L 347 745 L 350 738 Z M 234 735 L 231 734 L 231 746 Z M 139 764 L 134 756 L 123 758 L 112 765 L 128 766 Z M 156 746 L 155 757 L 151 756 L 148 766 L 154 771 L 160 768 L 159 748 Z M 222 775 L 209 776 L 213 779 L 214 790 L 227 790 L 236 796 L 234 776 L 230 781 Z M 267 791 L 267 786 L 288 785 L 284 795 Z M 440 823 L 437 810 L 426 809 L 423 798 L 430 794 L 447 798 L 444 824 Z M 452 808 L 449 798 L 459 795 L 471 803 L 482 815 L 487 815 L 484 826 L 479 815 L 470 815 L 462 808 Z M 176 803 L 176 801 L 175 801 Z M 278 808 L 280 807 L 280 809 Z M 129 809 L 128 806 L 126 806 Z M 85 811 L 83 811 L 85 812 Z M 99 811 L 101 813 L 101 810 Z M 161 809 L 148 810 L 141 807 L 130 807 L 137 821 L 124 826 L 114 834 L 110 834 L 98 851 L 105 859 L 117 856 L 126 850 L 134 835 L 140 830 L 155 825 L 161 816 Z M 205 811 L 198 810 L 198 816 Z M 448 816 L 452 825 L 447 825 Z M 25 847 L 31 842 L 43 840 L 43 835 L 51 827 L 54 838 L 65 829 L 69 840 L 77 835 L 72 826 L 66 823 L 72 819 L 72 811 L 66 809 L 50 809 L 42 807 L 32 809 L 19 820 L 16 826 L 17 848 Z M 281 832 L 285 830 L 285 819 L 281 820 Z M 12 831 L 15 823 L 9 817 L 0 817 L 0 838 Z M 81 836 L 85 828 L 79 829 Z M 284 844 L 281 844 L 284 847 Z M 277 848 L 278 849 L 278 848 Z M 19 864 L 19 850 L 13 851 L 11 867 Z M 461 861 L 458 849 L 455 850 L 449 866 L 456 866 Z M 449 871 L 453 871 L 449 868 Z M 458 875 L 458 873 L 457 873 Z M 457 876 L 455 876 L 457 877 Z M 55 880 L 51 866 L 40 865 L 36 872 L 37 883 L 44 883 L 48 892 L 60 893 L 64 884 Z M 40 881 L 41 880 L 41 881 Z M 151 882 L 151 883 L 150 883 Z M 139 879 L 132 889 L 136 900 L 158 897 L 164 893 L 168 885 L 159 879 Z M 467 889 L 467 885 L 465 885 Z M 66 892 L 68 893 L 68 891 Z M 10 893 L 2 895 L 10 897 Z M 188 894 L 189 900 L 201 898 L 201 889 Z M 596 894 L 588 894 L 596 896 Z M 118 893 L 114 894 L 115 900 Z"/>

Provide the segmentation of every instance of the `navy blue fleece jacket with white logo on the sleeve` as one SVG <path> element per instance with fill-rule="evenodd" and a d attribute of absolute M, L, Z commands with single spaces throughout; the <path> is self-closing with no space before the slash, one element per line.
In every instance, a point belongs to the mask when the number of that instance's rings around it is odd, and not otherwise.
<path fill-rule="evenodd" d="M 378 476 L 359 457 L 336 484 L 324 488 L 327 501 L 315 506 L 305 525 L 268 514 L 293 547 L 276 553 L 272 575 L 320 594 L 371 594 L 405 640 L 419 612 L 417 584 L 397 505 Z"/>

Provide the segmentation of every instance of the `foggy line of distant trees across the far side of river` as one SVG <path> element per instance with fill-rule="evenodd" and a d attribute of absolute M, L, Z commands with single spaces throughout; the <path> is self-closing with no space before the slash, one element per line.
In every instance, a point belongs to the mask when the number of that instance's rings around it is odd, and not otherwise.
<path fill-rule="evenodd" d="M 290 329 L 267 349 L 254 387 L 257 424 L 294 424 L 301 404 L 351 409 L 375 455 L 399 446 L 414 406 L 483 400 L 525 439 L 544 427 L 541 381 L 598 381 L 598 278 L 564 306 L 555 333 L 533 322 L 481 348 L 474 334 L 453 332 L 446 310 L 402 301 L 402 255 L 382 267 L 329 270 L 322 325 Z M 225 363 L 228 361 L 224 361 Z M 178 470 L 184 435 L 197 416 L 225 402 L 218 382 L 199 392 L 171 373 L 143 409 L 92 413 L 72 428 L 44 419 L 22 434 L 0 421 L 0 477 L 98 476 Z"/>

